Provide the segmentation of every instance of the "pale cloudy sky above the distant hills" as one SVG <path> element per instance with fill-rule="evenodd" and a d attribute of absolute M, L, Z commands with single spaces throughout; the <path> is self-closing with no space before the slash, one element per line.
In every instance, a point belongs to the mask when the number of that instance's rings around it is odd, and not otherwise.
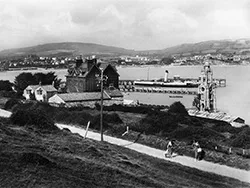
<path fill-rule="evenodd" d="M 0 50 L 86 42 L 134 50 L 250 38 L 250 0 L 0 0 Z"/>

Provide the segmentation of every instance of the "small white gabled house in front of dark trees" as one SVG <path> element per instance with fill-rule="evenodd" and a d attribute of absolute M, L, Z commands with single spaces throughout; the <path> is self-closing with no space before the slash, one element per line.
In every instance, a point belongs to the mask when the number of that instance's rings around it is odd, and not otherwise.
<path fill-rule="evenodd" d="M 57 93 L 53 85 L 29 85 L 23 91 L 23 96 L 28 100 L 31 94 L 34 94 L 37 101 L 48 101 L 48 99 Z"/>

